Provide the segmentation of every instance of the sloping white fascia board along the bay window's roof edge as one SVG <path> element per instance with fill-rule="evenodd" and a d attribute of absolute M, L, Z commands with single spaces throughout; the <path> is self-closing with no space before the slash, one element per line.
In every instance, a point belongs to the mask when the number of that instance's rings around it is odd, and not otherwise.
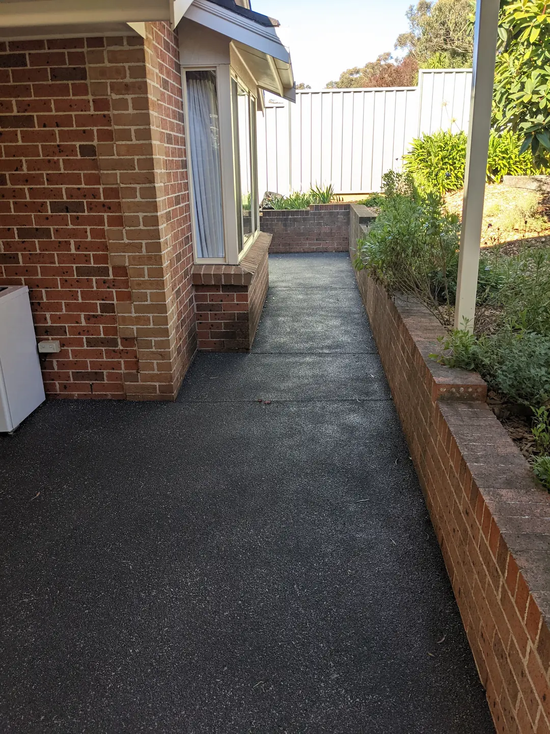
<path fill-rule="evenodd" d="M 273 27 L 267 28 L 254 23 L 236 12 L 220 7 L 208 0 L 194 0 L 185 13 L 190 21 L 207 26 L 224 36 L 256 48 L 267 56 L 290 64 L 290 54 L 279 40 Z"/>

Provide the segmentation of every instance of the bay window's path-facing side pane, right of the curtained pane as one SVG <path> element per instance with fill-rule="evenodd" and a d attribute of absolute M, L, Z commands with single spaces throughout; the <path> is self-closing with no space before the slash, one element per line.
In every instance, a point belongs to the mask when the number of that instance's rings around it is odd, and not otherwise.
<path fill-rule="evenodd" d="M 256 103 L 236 79 L 231 80 L 237 245 L 242 252 L 257 231 Z"/>

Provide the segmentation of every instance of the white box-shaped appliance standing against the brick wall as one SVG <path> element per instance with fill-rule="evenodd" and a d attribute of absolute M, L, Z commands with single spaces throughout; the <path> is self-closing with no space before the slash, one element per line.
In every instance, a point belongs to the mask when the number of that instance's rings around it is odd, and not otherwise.
<path fill-rule="evenodd" d="M 0 286 L 0 432 L 45 400 L 27 286 Z"/>

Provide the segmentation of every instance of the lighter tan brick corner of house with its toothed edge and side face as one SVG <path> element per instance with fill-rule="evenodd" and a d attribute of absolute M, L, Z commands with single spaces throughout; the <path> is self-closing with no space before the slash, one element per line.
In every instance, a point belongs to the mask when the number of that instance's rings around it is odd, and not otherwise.
<path fill-rule="evenodd" d="M 172 399 L 197 348 L 183 98 L 175 34 L 166 23 L 146 23 L 146 29 L 143 65 L 122 89 L 120 78 L 114 89 L 111 82 L 114 94 L 133 90 L 118 99 L 114 117 L 112 163 L 123 163 L 125 219 L 111 252 L 131 278 L 132 304 L 121 324 L 136 338 L 139 379 L 127 385 L 128 396 Z M 142 110 L 147 125 L 136 129 Z"/>

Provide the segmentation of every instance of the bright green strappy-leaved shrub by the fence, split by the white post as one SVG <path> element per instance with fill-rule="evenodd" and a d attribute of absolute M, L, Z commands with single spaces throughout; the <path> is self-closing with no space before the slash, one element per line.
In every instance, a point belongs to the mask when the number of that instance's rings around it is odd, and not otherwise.
<path fill-rule="evenodd" d="M 405 170 L 414 176 L 419 189 L 445 192 L 464 186 L 466 169 L 466 134 L 450 130 L 424 135 L 413 141 L 411 152 L 403 156 Z M 502 181 L 505 175 L 529 175 L 535 172 L 532 154 L 520 154 L 518 135 L 491 131 L 487 162 L 487 181 Z"/>

